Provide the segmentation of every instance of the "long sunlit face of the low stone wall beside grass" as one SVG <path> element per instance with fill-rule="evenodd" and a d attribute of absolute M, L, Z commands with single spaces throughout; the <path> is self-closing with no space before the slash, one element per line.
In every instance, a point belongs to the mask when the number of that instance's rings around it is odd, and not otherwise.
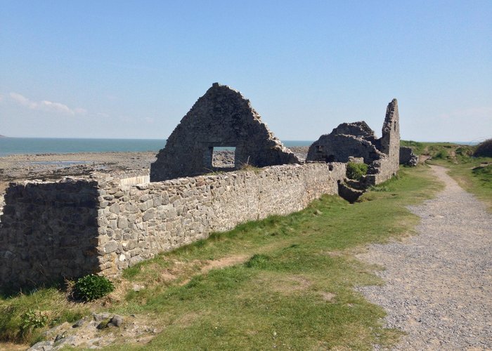
<path fill-rule="evenodd" d="M 345 170 L 345 164 L 271 166 L 127 188 L 108 178 L 98 213 L 101 271 L 112 276 L 211 232 L 299 211 L 322 194 L 337 194 Z"/>

